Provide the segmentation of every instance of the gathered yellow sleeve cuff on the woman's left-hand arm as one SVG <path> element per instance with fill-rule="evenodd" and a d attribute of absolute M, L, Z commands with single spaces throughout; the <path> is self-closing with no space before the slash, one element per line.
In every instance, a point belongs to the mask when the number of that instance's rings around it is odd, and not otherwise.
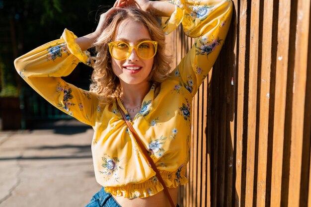
<path fill-rule="evenodd" d="M 72 31 L 65 29 L 62 34 L 62 38 L 66 41 L 67 48 L 71 52 L 71 54 L 76 56 L 79 61 L 84 63 L 85 65 L 92 65 L 90 53 L 88 51 L 81 51 L 81 48 L 75 41 L 75 39 L 77 39 L 78 37 Z"/>

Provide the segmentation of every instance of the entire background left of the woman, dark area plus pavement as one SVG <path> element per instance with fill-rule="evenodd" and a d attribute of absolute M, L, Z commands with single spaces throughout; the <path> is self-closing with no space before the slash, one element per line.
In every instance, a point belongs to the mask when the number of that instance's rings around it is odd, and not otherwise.
<path fill-rule="evenodd" d="M 60 38 L 83 36 L 113 0 L 0 0 L 0 207 L 85 206 L 100 190 L 93 130 L 41 98 L 17 74 L 15 58 Z M 110 6 L 109 6 L 110 5 Z M 88 89 L 92 69 L 64 79 Z"/>

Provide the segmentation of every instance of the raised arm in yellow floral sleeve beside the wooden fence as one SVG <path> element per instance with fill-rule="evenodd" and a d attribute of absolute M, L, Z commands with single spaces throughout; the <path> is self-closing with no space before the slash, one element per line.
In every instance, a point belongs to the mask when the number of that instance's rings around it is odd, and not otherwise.
<path fill-rule="evenodd" d="M 193 96 L 213 67 L 226 39 L 231 17 L 231 0 L 171 0 L 176 11 L 163 24 L 164 32 L 173 31 L 181 22 L 184 32 L 195 43 L 171 73 L 179 86 Z"/>

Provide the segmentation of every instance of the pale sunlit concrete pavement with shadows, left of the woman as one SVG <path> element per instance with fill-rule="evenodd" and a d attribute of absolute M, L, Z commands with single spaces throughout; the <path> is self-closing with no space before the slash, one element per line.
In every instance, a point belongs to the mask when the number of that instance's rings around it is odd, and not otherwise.
<path fill-rule="evenodd" d="M 84 207 L 100 190 L 90 143 L 78 121 L 0 132 L 0 207 Z"/>

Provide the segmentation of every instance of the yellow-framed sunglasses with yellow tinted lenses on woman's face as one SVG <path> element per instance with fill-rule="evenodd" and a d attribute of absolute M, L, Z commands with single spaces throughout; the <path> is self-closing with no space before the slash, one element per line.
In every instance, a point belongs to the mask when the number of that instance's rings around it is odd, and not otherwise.
<path fill-rule="evenodd" d="M 112 58 L 116 60 L 125 60 L 130 57 L 132 50 L 135 49 L 139 58 L 151 59 L 156 55 L 157 42 L 152 40 L 145 40 L 140 42 L 137 46 L 130 46 L 123 41 L 109 42 L 109 53 Z"/>

